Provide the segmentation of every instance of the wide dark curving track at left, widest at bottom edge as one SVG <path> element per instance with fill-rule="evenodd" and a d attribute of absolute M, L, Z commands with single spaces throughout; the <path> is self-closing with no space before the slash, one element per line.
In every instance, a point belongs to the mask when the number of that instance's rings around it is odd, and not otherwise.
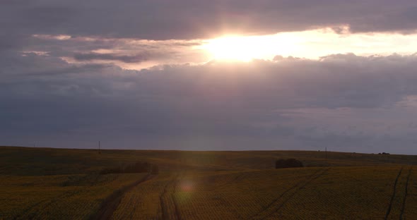
<path fill-rule="evenodd" d="M 117 207 L 122 201 L 122 197 L 125 193 L 129 192 L 140 183 L 148 181 L 153 177 L 153 175 L 148 174 L 145 177 L 141 178 L 139 181 L 126 185 L 123 188 L 112 193 L 112 195 L 107 197 L 107 199 L 104 202 L 102 202 L 102 204 L 100 205 L 100 209 L 98 209 L 98 212 L 95 215 L 90 217 L 90 220 L 110 219 L 113 215 L 113 212 L 116 211 Z"/>

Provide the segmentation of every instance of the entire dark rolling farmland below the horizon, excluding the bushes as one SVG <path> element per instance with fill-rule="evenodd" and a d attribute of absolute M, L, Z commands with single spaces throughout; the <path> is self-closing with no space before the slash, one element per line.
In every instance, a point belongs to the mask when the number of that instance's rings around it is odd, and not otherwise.
<path fill-rule="evenodd" d="M 304 168 L 274 169 L 295 158 Z M 147 161 L 158 174 L 99 174 Z M 0 219 L 415 219 L 417 157 L 0 147 Z"/>

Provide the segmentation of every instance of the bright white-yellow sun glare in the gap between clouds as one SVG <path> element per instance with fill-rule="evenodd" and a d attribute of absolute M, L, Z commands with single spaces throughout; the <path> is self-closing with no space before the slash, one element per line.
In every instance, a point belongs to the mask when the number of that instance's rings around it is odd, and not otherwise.
<path fill-rule="evenodd" d="M 413 54 L 417 34 L 399 33 L 351 33 L 341 26 L 343 32 L 330 27 L 300 32 L 279 32 L 275 35 L 226 35 L 206 39 L 197 49 L 207 59 L 218 61 L 273 60 L 276 55 L 319 59 L 329 54 L 354 53 L 361 56 L 392 53 Z"/>

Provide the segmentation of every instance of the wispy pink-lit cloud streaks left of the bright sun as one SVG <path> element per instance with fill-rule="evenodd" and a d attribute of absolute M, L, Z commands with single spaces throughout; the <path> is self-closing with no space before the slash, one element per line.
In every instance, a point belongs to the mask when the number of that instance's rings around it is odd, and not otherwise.
<path fill-rule="evenodd" d="M 71 37 L 69 35 L 32 35 L 23 49 L 11 50 L 28 56 L 37 53 L 70 63 L 113 63 L 123 68 L 141 69 L 158 63 L 200 63 L 206 54 L 198 45 L 201 40 L 116 39 Z"/>

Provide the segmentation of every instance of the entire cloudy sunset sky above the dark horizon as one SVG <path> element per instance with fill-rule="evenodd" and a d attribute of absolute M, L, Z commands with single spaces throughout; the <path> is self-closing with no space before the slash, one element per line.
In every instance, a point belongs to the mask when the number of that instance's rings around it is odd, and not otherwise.
<path fill-rule="evenodd" d="M 417 1 L 2 0 L 0 145 L 417 154 Z"/>

